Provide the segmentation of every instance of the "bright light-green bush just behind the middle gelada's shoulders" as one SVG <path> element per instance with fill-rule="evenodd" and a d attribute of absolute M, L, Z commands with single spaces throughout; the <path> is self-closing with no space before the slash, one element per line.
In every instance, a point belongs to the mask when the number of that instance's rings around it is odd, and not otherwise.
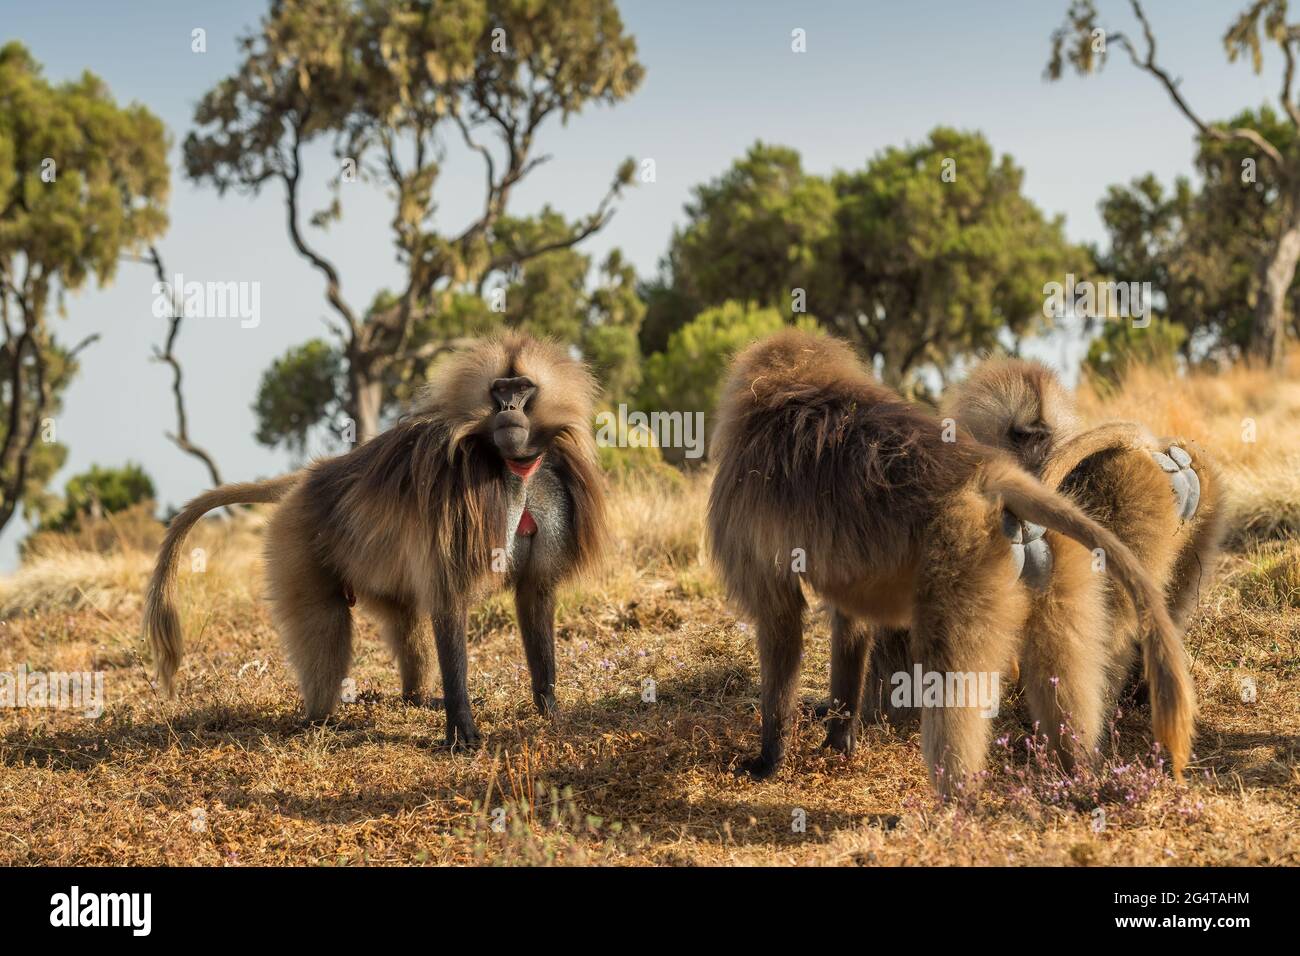
<path fill-rule="evenodd" d="M 814 329 L 816 321 L 800 320 Z M 668 347 L 646 362 L 640 405 L 660 411 L 702 411 L 718 406 L 718 395 L 732 358 L 750 342 L 780 330 L 785 317 L 775 308 L 727 302 L 708 308 L 668 337 Z"/>

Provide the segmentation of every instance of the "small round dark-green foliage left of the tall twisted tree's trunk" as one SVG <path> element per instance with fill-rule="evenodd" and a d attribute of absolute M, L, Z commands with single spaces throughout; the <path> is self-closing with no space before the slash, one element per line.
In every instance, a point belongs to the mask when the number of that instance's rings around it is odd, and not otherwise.
<path fill-rule="evenodd" d="M 329 342 L 318 338 L 294 346 L 261 376 L 254 412 L 257 441 L 268 447 L 283 445 L 294 454 L 307 450 L 315 427 L 341 414 L 343 359 Z"/>

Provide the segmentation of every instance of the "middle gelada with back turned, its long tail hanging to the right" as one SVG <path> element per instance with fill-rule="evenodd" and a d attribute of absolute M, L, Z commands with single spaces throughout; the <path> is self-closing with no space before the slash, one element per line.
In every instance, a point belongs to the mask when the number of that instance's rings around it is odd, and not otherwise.
<path fill-rule="evenodd" d="M 829 721 L 829 747 L 853 747 L 876 633 L 863 623 L 871 623 L 907 628 L 911 659 L 926 672 L 994 674 L 1017 654 L 1026 669 L 1050 666 L 1031 683 L 1056 696 L 1031 706 L 1053 723 L 1061 713 L 1088 711 L 1080 743 L 1092 753 L 1104 661 L 1082 637 L 1095 631 L 1084 628 L 1050 656 L 1023 654 L 1035 632 L 1027 627 L 1031 584 L 1010 537 L 1026 522 L 1048 528 L 1052 576 L 1075 587 L 1083 613 L 1097 617 L 1102 607 L 1084 561 L 1092 549 L 1131 593 L 1156 736 L 1180 774 L 1195 701 L 1158 588 L 1112 532 L 1004 451 L 961 431 L 945 434 L 936 418 L 876 384 L 845 343 L 796 330 L 737 358 L 714 450 L 710 548 L 729 596 L 758 624 L 763 728 L 762 752 L 745 765 L 750 774 L 772 774 L 785 750 L 803 644 L 801 580 L 833 610 L 831 696 L 842 710 Z M 983 767 L 989 724 L 965 698 L 923 709 L 922 743 L 940 792 Z"/>

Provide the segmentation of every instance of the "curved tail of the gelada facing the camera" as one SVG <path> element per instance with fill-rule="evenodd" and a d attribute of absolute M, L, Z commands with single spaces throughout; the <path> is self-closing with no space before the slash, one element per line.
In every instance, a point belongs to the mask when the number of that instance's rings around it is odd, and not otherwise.
<path fill-rule="evenodd" d="M 285 475 L 269 481 L 250 481 L 221 485 L 204 492 L 172 519 L 159 549 L 159 562 L 153 567 L 150 591 L 144 598 L 144 637 L 153 652 L 159 687 L 172 696 L 176 669 L 181 666 L 181 618 L 176 613 L 176 564 L 186 535 L 203 515 L 225 505 L 255 505 L 280 501 L 298 484 L 299 473 Z"/>

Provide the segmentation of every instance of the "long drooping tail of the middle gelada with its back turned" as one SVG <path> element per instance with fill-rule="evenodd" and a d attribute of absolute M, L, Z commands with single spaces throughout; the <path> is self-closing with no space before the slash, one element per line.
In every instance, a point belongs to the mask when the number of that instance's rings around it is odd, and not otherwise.
<path fill-rule="evenodd" d="M 1150 685 L 1152 727 L 1156 739 L 1169 750 L 1174 777 L 1182 778 L 1191 756 L 1196 695 L 1165 596 L 1123 541 L 1076 505 L 1010 462 L 991 459 L 984 473 L 985 489 L 1001 496 L 1017 518 L 1058 531 L 1091 550 L 1100 548 L 1106 568 L 1132 596 Z"/>

